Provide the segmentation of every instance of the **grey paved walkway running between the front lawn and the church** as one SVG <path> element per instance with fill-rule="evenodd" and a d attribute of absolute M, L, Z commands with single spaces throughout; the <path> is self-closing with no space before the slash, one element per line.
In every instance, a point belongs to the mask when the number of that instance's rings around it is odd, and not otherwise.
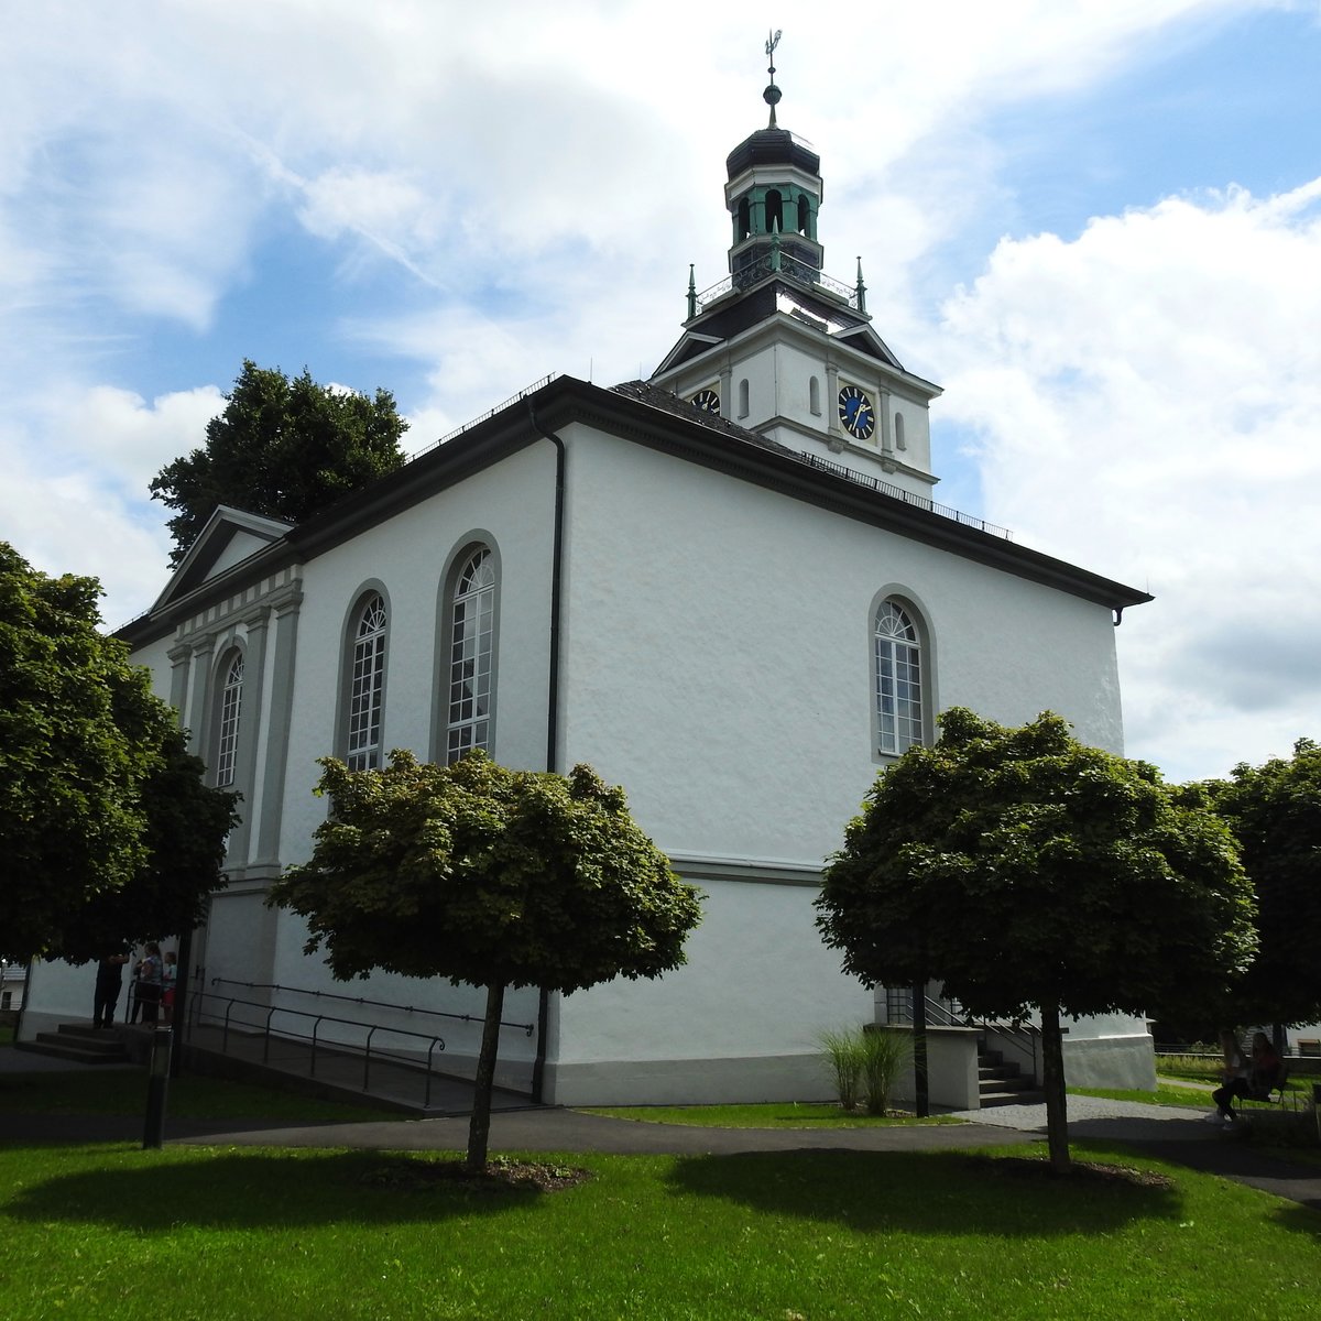
<path fill-rule="evenodd" d="M 28 1052 L 0 1050 L 0 1075 L 28 1071 L 30 1062 L 41 1058 Z M 45 1061 L 37 1067 L 95 1074 L 100 1066 Z M 1321 1211 L 1321 1165 L 1280 1160 L 1246 1143 L 1227 1140 L 1219 1127 L 1202 1122 L 1206 1114 L 1202 1110 L 1070 1096 L 1069 1136 L 1074 1140 L 1129 1143 L 1162 1160 L 1221 1174 Z M 528 1107 L 493 1114 L 490 1144 L 493 1151 L 614 1155 L 729 1155 L 802 1149 L 915 1152 L 1021 1145 L 1038 1141 L 1046 1128 L 1044 1104 L 999 1106 L 964 1111 L 958 1118 L 966 1123 L 890 1128 L 697 1128 Z M 168 1119 L 165 1135 L 172 1143 L 205 1145 L 462 1151 L 468 1144 L 468 1119 L 446 1116 L 310 1125 Z M 0 1115 L 0 1143 L 140 1141 L 141 1136 L 141 1119 Z"/>

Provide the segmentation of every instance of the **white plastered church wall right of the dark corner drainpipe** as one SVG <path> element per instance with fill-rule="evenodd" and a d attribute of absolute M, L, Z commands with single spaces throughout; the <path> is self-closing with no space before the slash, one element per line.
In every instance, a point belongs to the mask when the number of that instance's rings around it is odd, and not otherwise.
<path fill-rule="evenodd" d="M 624 783 L 667 852 L 745 860 L 754 875 L 818 867 L 839 847 L 880 765 L 869 612 L 886 588 L 925 616 L 941 708 L 1005 723 L 1049 708 L 1122 750 L 1108 609 L 585 428 L 568 435 L 561 764 Z M 557 1099 L 802 1098 L 819 1028 L 872 1017 L 869 993 L 820 946 L 812 889 L 704 888 L 687 968 L 560 1004 Z M 1125 1057 L 1128 1079 L 1139 1066 L 1127 1057 L 1149 1061 L 1149 1040 L 1140 1020 L 1089 1021 L 1070 1053 L 1079 1070 Z"/>

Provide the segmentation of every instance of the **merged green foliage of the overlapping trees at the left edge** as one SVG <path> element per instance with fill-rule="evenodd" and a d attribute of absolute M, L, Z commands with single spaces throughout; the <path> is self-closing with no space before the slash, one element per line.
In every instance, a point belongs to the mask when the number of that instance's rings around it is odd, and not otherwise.
<path fill-rule="evenodd" d="M 229 830 L 231 795 L 202 785 L 147 670 L 98 631 L 99 594 L 95 579 L 49 577 L 0 543 L 7 958 L 79 962 L 181 930 L 197 896 L 184 902 L 176 884 L 201 884 L 197 857 Z"/>

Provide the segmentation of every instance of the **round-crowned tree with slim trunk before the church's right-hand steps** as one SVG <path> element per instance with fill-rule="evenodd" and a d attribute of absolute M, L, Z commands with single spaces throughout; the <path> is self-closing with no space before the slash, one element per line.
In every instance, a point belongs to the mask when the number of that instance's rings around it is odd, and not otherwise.
<path fill-rule="evenodd" d="M 1062 1172 L 1061 1013 L 1143 1013 L 1222 985 L 1251 958 L 1251 889 L 1211 811 L 1059 716 L 1007 729 L 954 708 L 941 724 L 877 777 L 816 923 L 868 985 L 934 979 L 979 1017 L 1040 1012 Z"/>

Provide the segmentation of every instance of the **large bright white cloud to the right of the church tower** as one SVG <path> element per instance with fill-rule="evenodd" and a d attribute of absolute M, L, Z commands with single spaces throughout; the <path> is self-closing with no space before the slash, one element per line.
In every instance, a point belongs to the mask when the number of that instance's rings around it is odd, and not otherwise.
<path fill-rule="evenodd" d="M 939 407 L 980 437 L 988 517 L 1156 596 L 1119 635 L 1127 725 L 1176 778 L 1317 733 L 1318 203 L 1321 180 L 1004 240 L 946 306 Z"/>

